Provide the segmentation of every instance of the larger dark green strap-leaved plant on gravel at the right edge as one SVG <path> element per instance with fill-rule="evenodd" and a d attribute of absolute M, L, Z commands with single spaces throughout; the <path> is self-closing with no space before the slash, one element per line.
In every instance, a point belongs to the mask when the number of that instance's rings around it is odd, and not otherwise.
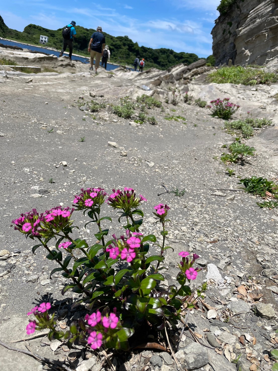
<path fill-rule="evenodd" d="M 247 193 L 252 193 L 260 197 L 272 196 L 278 198 L 278 185 L 272 180 L 262 177 L 251 177 L 240 179 L 238 184 L 244 185 Z"/>

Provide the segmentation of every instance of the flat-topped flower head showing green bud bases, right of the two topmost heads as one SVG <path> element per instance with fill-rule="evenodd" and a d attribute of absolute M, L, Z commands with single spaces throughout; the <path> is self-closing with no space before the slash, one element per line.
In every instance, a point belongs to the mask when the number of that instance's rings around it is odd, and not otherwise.
<path fill-rule="evenodd" d="M 112 189 L 113 193 L 107 198 L 106 202 L 114 209 L 131 210 L 136 209 L 142 201 L 147 201 L 142 194 L 136 196 L 133 188 L 125 187 L 123 191 Z"/>

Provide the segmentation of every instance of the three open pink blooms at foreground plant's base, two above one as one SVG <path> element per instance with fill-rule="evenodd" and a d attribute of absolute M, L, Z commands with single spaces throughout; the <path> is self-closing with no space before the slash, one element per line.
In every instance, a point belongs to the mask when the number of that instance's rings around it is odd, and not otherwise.
<path fill-rule="evenodd" d="M 89 326 L 97 327 L 97 330 L 105 332 L 107 332 L 109 328 L 115 329 L 119 323 L 119 318 L 115 313 L 110 313 L 109 316 L 102 316 L 99 311 L 92 313 L 90 316 L 87 314 L 85 320 L 87 320 Z M 89 330 L 87 342 L 92 349 L 97 349 L 102 345 L 102 338 L 101 332 Z"/>

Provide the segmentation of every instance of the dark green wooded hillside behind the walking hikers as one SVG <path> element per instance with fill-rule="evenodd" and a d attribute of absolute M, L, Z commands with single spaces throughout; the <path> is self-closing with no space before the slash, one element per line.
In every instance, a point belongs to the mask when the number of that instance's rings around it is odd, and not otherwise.
<path fill-rule="evenodd" d="M 73 53 L 89 56 L 87 48 L 93 32 L 95 32 L 93 29 L 76 26 L 77 35 L 73 42 Z M 138 43 L 130 40 L 128 36 L 115 37 L 105 32 L 103 34 L 105 35 L 106 44 L 110 48 L 110 62 L 132 65 L 136 56 L 139 55 L 140 58 L 145 58 L 146 68 L 156 67 L 167 69 L 178 63 L 190 64 L 199 59 L 193 53 L 176 53 L 172 49 L 152 49 L 139 46 Z M 0 16 L 0 37 L 33 45 L 41 45 L 39 43 L 40 35 L 49 37 L 47 46 L 54 47 L 58 50 L 62 48 L 62 29 L 49 30 L 35 24 L 29 24 L 24 28 L 23 32 L 19 32 L 7 27 L 3 18 Z"/>

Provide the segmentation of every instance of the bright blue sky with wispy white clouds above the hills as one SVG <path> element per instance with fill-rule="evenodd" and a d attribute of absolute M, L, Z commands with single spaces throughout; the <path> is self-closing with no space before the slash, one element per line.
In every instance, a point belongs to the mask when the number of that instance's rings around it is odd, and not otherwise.
<path fill-rule="evenodd" d="M 0 14 L 10 28 L 23 31 L 33 23 L 58 29 L 75 20 L 138 44 L 176 52 L 212 54 L 211 30 L 220 0 L 17 0 L 1 1 Z"/>

